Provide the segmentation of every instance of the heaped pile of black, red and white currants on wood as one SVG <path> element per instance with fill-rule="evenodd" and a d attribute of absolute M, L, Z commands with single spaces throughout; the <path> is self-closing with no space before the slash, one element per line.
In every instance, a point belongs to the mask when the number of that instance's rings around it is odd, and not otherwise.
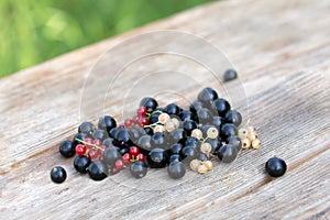
<path fill-rule="evenodd" d="M 64 157 L 77 154 L 74 167 L 95 180 L 125 168 L 135 178 L 144 177 L 148 168 L 166 168 L 170 178 L 178 179 L 186 167 L 205 174 L 213 168 L 215 158 L 231 163 L 248 144 L 257 148 L 255 130 L 238 130 L 241 122 L 241 113 L 212 88 L 202 89 L 188 109 L 176 103 L 162 108 L 146 97 L 122 125 L 110 116 L 101 117 L 97 127 L 81 123 L 73 141 L 61 143 L 59 152 Z"/>

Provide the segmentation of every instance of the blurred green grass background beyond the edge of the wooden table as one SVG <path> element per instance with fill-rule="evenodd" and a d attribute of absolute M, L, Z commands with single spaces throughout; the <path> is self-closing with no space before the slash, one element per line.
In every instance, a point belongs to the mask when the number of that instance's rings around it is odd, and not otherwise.
<path fill-rule="evenodd" d="M 0 0 L 0 77 L 211 0 Z"/>

